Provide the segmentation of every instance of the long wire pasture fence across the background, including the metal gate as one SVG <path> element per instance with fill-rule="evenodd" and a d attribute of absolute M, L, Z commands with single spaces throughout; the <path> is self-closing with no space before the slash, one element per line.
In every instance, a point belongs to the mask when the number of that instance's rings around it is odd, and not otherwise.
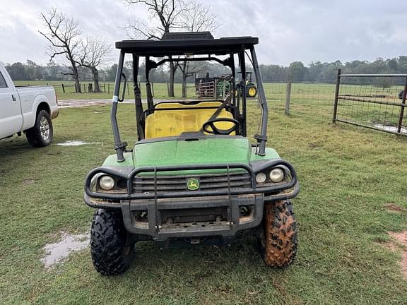
<path fill-rule="evenodd" d="M 45 85 L 45 81 L 41 82 Z M 54 85 L 61 100 L 72 98 L 75 92 L 73 82 L 61 83 L 47 81 L 47 85 Z M 19 85 L 29 85 L 20 82 Z M 33 85 L 40 85 L 39 81 Z M 114 83 L 100 82 L 102 95 L 98 98 L 112 97 Z M 140 83 L 141 97 L 146 99 L 146 88 Z M 81 82 L 83 92 L 90 92 L 90 82 Z M 168 83 L 151 83 L 155 100 L 165 100 L 169 96 Z M 182 98 L 182 84 L 175 83 L 175 98 Z M 311 82 L 275 82 L 264 83 L 264 91 L 271 109 L 285 114 L 300 112 L 301 107 L 309 107 L 324 116 L 332 115 L 333 121 L 348 123 L 379 131 L 387 131 L 403 136 L 407 135 L 406 94 L 407 74 L 341 74 L 338 71 L 337 80 Z M 65 95 L 64 95 L 65 93 Z M 77 97 L 80 99 L 81 95 Z M 75 96 L 76 97 L 76 96 Z M 132 85 L 125 88 L 126 99 L 134 98 Z M 198 99 L 194 83 L 187 83 L 187 98 Z M 218 97 L 223 98 L 223 97 Z M 258 97 L 248 98 L 254 102 Z M 291 109 L 292 108 L 292 109 Z"/>

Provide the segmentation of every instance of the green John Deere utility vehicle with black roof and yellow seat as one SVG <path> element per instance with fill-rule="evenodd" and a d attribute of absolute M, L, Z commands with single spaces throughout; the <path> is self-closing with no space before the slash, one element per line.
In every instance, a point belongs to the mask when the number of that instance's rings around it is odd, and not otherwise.
<path fill-rule="evenodd" d="M 120 55 L 111 112 L 116 154 L 85 180 L 85 203 L 97 209 L 90 250 L 98 272 L 123 273 L 137 241 L 230 244 L 247 232 L 259 241 L 266 265 L 281 268 L 293 262 L 297 225 L 290 198 L 300 186 L 293 166 L 266 148 L 268 108 L 254 50 L 258 41 L 213 39 L 209 32 L 195 32 L 116 42 Z M 130 150 L 120 138 L 116 118 L 124 99 L 126 54 L 133 61 L 138 139 Z M 137 82 L 140 59 L 146 67 L 146 103 Z M 256 143 L 247 138 L 246 95 L 240 94 L 247 90 L 246 59 L 252 64 L 261 108 Z M 232 90 L 223 100 L 155 103 L 149 73 L 170 61 L 228 66 Z M 240 81 L 235 81 L 236 68 Z"/>

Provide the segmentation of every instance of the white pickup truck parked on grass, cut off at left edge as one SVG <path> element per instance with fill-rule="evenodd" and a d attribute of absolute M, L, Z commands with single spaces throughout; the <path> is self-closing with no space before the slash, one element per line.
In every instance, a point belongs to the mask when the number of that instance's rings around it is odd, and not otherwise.
<path fill-rule="evenodd" d="M 52 141 L 52 119 L 58 116 L 57 95 L 52 86 L 16 87 L 0 64 L 0 139 L 24 132 L 34 147 Z"/>

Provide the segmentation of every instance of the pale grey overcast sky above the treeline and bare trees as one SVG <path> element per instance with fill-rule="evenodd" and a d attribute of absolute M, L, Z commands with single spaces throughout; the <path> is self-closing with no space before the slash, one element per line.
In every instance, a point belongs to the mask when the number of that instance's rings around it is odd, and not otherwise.
<path fill-rule="evenodd" d="M 407 55 L 406 0 L 201 0 L 219 16 L 215 37 L 259 37 L 263 64 L 292 61 L 373 61 Z M 40 11 L 55 6 L 78 20 L 85 34 L 126 39 L 127 18 L 145 18 L 143 6 L 121 0 L 0 0 L 0 61 L 46 64 Z"/>

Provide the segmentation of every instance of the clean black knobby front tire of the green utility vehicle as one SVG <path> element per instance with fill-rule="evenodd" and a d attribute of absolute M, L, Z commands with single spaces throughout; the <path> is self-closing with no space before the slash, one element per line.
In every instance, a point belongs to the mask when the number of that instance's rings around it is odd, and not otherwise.
<path fill-rule="evenodd" d="M 122 213 L 96 210 L 90 229 L 90 254 L 99 273 L 118 275 L 129 268 L 134 259 L 134 243 L 127 241 Z"/>

